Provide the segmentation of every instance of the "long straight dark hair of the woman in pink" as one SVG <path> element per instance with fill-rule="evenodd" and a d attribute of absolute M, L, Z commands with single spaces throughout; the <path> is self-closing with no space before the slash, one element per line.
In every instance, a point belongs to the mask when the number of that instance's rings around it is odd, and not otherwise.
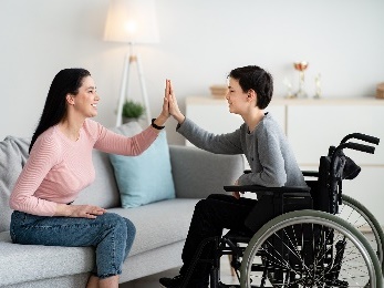
<path fill-rule="evenodd" d="M 53 79 L 37 130 L 29 147 L 31 152 L 37 138 L 49 127 L 56 125 L 66 116 L 66 95 L 77 95 L 83 79 L 91 73 L 81 68 L 61 70 Z"/>

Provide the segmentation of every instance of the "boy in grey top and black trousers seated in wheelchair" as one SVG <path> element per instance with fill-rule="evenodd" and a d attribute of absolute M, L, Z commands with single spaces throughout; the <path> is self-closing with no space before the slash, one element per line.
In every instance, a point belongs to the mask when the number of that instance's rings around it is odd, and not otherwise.
<path fill-rule="evenodd" d="M 288 141 L 270 113 L 264 112 L 272 99 L 272 76 L 259 66 L 249 65 L 232 70 L 226 99 L 229 112 L 240 115 L 245 123 L 235 132 L 215 135 L 204 131 L 180 112 L 169 83 L 169 113 L 178 122 L 177 132 L 197 147 L 220 154 L 245 154 L 251 173 L 242 174 L 236 185 L 257 184 L 269 187 L 307 186 Z M 235 197 L 233 197 L 235 196 Z M 267 205 L 266 205 L 267 203 Z M 162 278 L 164 287 L 180 287 L 189 264 L 200 245 L 208 237 L 221 236 L 222 229 L 252 233 L 246 219 L 252 212 L 258 217 L 269 213 L 268 202 L 230 195 L 210 195 L 197 203 L 183 249 L 183 267 L 174 278 Z M 211 246 L 203 250 L 201 258 L 209 258 Z M 187 287 L 208 287 L 209 267 L 198 265 Z"/>

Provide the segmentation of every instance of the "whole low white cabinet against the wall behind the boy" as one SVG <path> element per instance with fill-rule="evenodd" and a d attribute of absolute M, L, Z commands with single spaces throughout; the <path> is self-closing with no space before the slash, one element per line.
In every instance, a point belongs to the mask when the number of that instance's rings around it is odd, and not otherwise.
<path fill-rule="evenodd" d="M 346 134 L 359 132 L 381 138 L 374 155 L 344 151 L 362 172 L 355 179 L 345 181 L 343 187 L 384 226 L 384 100 L 273 99 L 267 111 L 286 132 L 302 169 L 316 169 L 320 156 L 326 155 L 329 146 L 338 145 Z M 229 113 L 224 99 L 187 97 L 186 115 L 214 133 L 232 132 L 242 124 L 240 116 Z"/>

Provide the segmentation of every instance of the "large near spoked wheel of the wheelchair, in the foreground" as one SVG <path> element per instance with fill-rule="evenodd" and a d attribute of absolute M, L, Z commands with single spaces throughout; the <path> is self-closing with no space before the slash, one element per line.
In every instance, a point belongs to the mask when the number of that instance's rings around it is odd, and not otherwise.
<path fill-rule="evenodd" d="M 383 287 L 366 238 L 342 218 L 319 210 L 280 215 L 258 230 L 241 261 L 249 287 Z"/>

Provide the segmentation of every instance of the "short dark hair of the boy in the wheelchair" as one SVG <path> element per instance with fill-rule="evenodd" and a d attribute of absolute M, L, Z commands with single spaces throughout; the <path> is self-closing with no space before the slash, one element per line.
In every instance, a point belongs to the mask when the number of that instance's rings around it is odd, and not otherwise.
<path fill-rule="evenodd" d="M 257 106 L 266 109 L 272 100 L 273 79 L 270 73 L 256 65 L 237 68 L 230 71 L 228 78 L 239 81 L 243 92 L 253 90 L 257 94 Z"/>

